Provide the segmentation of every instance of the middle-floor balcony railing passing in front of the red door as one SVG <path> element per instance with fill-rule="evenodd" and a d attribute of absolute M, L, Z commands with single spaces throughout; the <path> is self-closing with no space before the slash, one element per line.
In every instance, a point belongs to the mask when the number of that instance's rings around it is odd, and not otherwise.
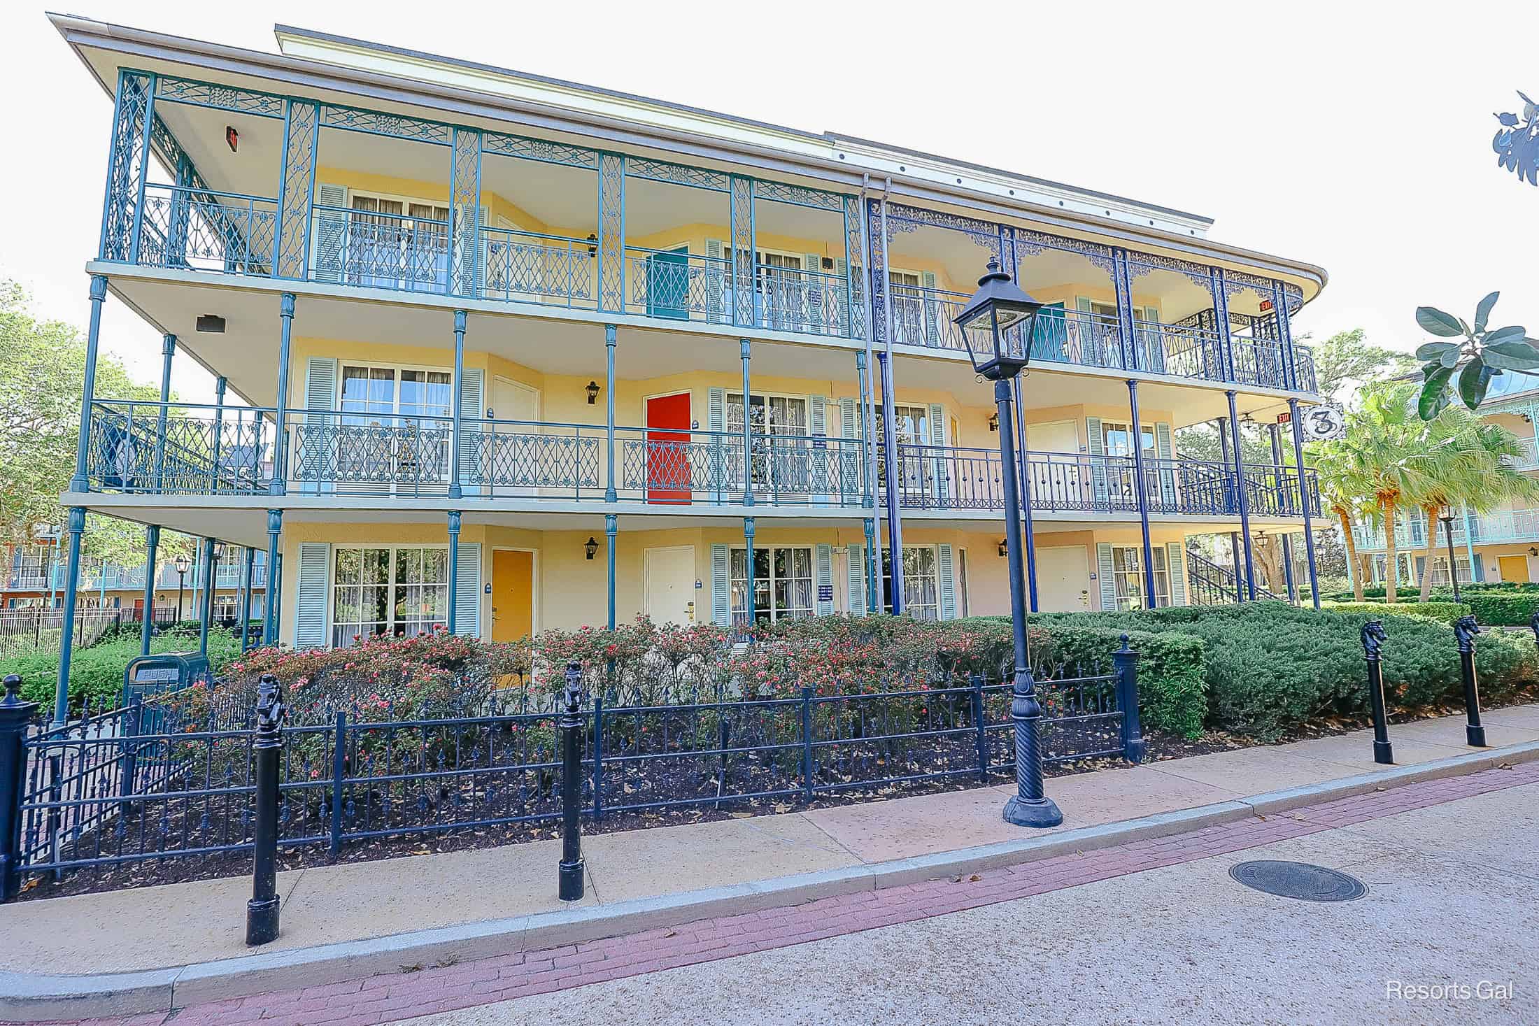
<path fill-rule="evenodd" d="M 446 498 L 468 501 L 616 501 L 649 506 L 820 506 L 870 503 L 860 438 L 805 434 L 614 428 L 462 418 L 456 455 L 446 417 L 371 418 L 334 411 L 285 411 L 285 491 L 294 495 Z M 274 474 L 275 411 L 102 400 L 91 423 L 92 489 L 145 495 L 266 497 Z M 886 481 L 879 452 L 879 480 Z M 457 466 L 456 466 L 457 465 Z M 1000 511 L 999 452 L 899 445 L 899 501 L 910 509 Z M 1234 471 L 1200 460 L 1143 461 L 1151 514 L 1237 517 Z M 1043 512 L 1139 512 L 1131 457 L 1028 452 L 1033 508 Z M 746 486 L 745 486 L 746 481 Z M 1310 515 L 1319 515 L 1307 471 Z M 1248 511 L 1300 515 L 1291 468 L 1245 468 Z M 883 491 L 885 494 L 885 485 Z M 222 574 L 235 569 L 222 565 Z"/>

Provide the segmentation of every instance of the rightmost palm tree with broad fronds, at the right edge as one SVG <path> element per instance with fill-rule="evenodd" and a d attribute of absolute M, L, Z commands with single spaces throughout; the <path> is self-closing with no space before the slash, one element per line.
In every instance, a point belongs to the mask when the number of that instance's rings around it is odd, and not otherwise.
<path fill-rule="evenodd" d="M 1427 601 L 1437 558 L 1437 517 L 1444 508 L 1468 506 L 1485 514 L 1507 498 L 1534 498 L 1539 481 L 1514 468 L 1524 454 L 1517 437 L 1464 406 L 1448 406 L 1427 421 L 1424 445 L 1425 486 L 1407 498 L 1427 514 L 1427 566 L 1420 574 L 1420 600 Z M 1442 558 L 1448 561 L 1447 555 Z M 1454 572 L 1450 566 L 1450 581 Z"/>

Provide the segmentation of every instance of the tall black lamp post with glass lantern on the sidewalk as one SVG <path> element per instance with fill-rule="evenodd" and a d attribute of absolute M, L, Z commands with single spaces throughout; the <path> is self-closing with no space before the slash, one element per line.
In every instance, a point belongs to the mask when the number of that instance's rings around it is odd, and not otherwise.
<path fill-rule="evenodd" d="M 980 377 L 994 383 L 999 418 L 1000 485 L 1005 491 L 1005 551 L 1010 558 L 1010 621 L 1016 641 L 1016 680 L 1010 718 L 1016 725 L 1016 797 L 1005 804 L 1005 821 L 1016 826 L 1057 826 L 1063 814 L 1042 792 L 1042 743 L 1037 726 L 1042 705 L 1031 678 L 1027 645 L 1027 578 L 1020 558 L 1020 495 L 1016 480 L 1014 418 L 1010 412 L 1010 381 L 1031 360 L 1031 335 L 1042 303 L 1020 291 L 1010 275 L 988 261 L 977 292 L 956 317 L 968 358 Z"/>

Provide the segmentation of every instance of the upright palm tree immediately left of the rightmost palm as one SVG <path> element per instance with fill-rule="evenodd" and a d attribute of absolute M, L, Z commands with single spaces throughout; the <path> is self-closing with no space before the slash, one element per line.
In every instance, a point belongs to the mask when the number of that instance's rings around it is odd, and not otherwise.
<path fill-rule="evenodd" d="M 1357 478 L 1357 492 L 1370 500 L 1384 523 L 1384 595 L 1394 601 L 1399 585 L 1399 546 L 1394 537 L 1407 497 L 1431 491 L 1422 421 L 1413 406 L 1414 388 L 1391 385 L 1364 395 L 1360 409 L 1347 417 L 1347 437 L 1336 443 L 1339 458 Z"/>

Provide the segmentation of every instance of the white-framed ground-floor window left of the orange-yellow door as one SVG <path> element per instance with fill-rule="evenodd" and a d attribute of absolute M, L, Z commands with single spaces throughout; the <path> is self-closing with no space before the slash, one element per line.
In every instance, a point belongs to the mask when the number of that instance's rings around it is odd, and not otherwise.
<path fill-rule="evenodd" d="M 334 646 L 382 634 L 425 634 L 446 623 L 448 549 L 337 549 L 332 558 Z"/>

